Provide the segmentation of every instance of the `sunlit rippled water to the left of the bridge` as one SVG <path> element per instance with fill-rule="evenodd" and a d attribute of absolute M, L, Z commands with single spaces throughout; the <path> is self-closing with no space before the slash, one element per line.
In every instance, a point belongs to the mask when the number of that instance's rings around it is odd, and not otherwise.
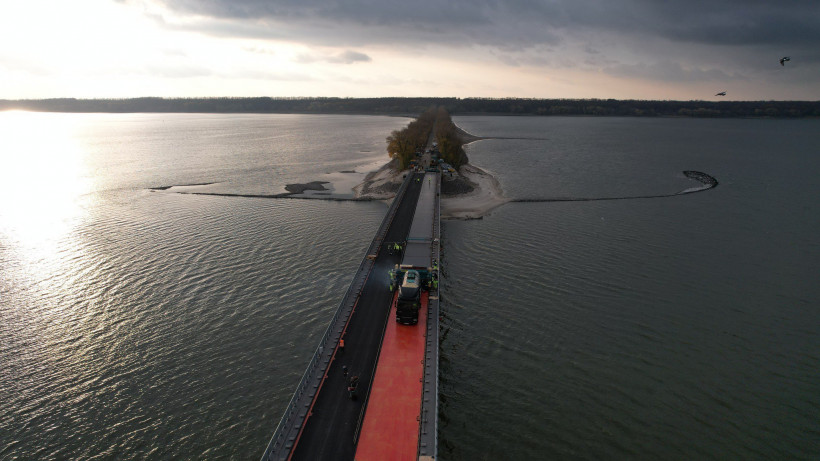
<path fill-rule="evenodd" d="M 403 123 L 0 114 L 0 459 L 260 457 L 387 208 L 149 188 L 277 191 Z"/>

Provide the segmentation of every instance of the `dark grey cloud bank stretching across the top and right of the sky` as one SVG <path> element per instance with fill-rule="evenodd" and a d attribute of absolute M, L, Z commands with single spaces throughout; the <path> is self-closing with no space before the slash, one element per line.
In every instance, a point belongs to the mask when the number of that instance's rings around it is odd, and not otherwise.
<path fill-rule="evenodd" d="M 166 27 L 337 50 L 463 48 L 507 66 L 671 82 L 746 80 L 781 55 L 801 56 L 805 75 L 820 68 L 818 0 L 151 1 L 170 11 Z M 352 51 L 298 59 L 370 60 Z"/>

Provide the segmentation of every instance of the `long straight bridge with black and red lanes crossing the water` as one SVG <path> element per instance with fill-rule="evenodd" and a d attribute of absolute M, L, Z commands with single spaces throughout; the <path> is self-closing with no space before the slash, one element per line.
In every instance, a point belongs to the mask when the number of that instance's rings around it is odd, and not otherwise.
<path fill-rule="evenodd" d="M 423 293 L 418 324 L 401 325 L 388 272 L 404 257 L 437 276 L 440 192 L 437 171 L 406 175 L 263 460 L 436 458 L 438 284 Z M 407 242 L 403 254 L 387 251 L 392 242 Z"/>

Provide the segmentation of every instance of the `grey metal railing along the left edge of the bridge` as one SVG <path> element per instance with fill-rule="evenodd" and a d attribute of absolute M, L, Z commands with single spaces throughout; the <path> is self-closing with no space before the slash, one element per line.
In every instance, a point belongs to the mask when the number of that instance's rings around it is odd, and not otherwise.
<path fill-rule="evenodd" d="M 263 461 L 286 460 L 295 446 L 296 439 L 307 420 L 307 413 L 313 404 L 322 378 L 327 371 L 327 367 L 330 365 L 333 352 L 339 343 L 344 325 L 350 317 L 353 306 L 361 295 L 362 288 L 367 280 L 367 275 L 373 267 L 374 262 L 369 259 L 368 256 L 376 254 L 379 251 L 384 237 L 390 228 L 390 224 L 396 215 L 396 210 L 410 184 L 410 178 L 412 178 L 412 175 L 408 174 L 396 192 L 396 197 L 393 199 L 393 203 L 390 204 L 390 208 L 382 220 L 382 224 L 379 226 L 376 236 L 373 237 L 367 254 L 365 254 L 365 257 L 359 264 L 356 275 L 353 277 L 347 292 L 345 292 L 342 302 L 333 314 L 333 318 L 330 320 L 325 334 L 319 341 L 319 346 L 316 348 L 310 363 L 308 363 L 302 375 L 302 379 L 296 387 L 296 391 L 293 393 L 293 397 L 291 397 L 290 403 L 288 403 L 282 415 L 282 419 L 279 421 L 268 443 L 265 454 L 262 456 Z"/>

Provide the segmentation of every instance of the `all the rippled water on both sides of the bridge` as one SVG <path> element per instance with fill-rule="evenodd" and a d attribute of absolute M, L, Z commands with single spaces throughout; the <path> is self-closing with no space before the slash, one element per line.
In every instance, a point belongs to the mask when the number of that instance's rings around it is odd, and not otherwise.
<path fill-rule="evenodd" d="M 442 459 L 820 456 L 820 122 L 458 117 Z M 386 211 L 405 119 L 0 113 L 0 458 L 255 459 Z M 355 173 L 341 173 L 355 171 Z M 152 187 L 212 183 L 169 191 Z"/>

